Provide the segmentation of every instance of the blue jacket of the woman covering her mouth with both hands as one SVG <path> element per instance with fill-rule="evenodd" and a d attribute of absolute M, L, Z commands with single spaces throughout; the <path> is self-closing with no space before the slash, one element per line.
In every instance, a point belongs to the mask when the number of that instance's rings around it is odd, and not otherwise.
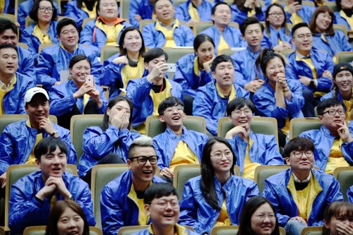
<path fill-rule="evenodd" d="M 85 176 L 100 159 L 112 152 L 126 162 L 128 147 L 139 136 L 140 133 L 131 132 L 128 129 L 119 130 L 112 125 L 109 125 L 106 131 L 102 131 L 101 126 L 86 128 L 83 133 L 83 155 L 78 162 L 79 176 Z"/>

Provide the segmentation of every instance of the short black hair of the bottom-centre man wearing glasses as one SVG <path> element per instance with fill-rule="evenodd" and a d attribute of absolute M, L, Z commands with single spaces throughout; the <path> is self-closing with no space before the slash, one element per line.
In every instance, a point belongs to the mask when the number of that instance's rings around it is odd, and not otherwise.
<path fill-rule="evenodd" d="M 153 183 L 149 186 L 143 195 L 143 202 L 150 205 L 155 198 L 167 197 L 169 195 L 176 195 L 179 200 L 177 189 L 170 183 Z"/>

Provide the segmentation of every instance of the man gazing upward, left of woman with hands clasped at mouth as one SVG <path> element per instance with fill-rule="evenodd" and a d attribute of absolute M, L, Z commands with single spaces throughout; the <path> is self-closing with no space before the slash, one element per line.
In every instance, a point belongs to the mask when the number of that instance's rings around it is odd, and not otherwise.
<path fill-rule="evenodd" d="M 217 56 L 212 62 L 210 82 L 196 91 L 193 115 L 206 119 L 208 137 L 217 136 L 218 120 L 226 115 L 227 104 L 236 97 L 249 97 L 249 92 L 234 84 L 234 62 L 227 55 Z"/>

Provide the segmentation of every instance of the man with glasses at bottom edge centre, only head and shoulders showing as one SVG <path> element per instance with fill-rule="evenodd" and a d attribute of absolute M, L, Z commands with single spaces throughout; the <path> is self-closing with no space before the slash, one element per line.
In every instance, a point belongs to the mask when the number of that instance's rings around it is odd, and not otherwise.
<path fill-rule="evenodd" d="M 140 230 L 134 235 L 196 235 L 196 232 L 177 224 L 180 213 L 179 197 L 177 190 L 169 183 L 155 183 L 148 187 L 143 200 L 151 223 L 148 229 Z"/>

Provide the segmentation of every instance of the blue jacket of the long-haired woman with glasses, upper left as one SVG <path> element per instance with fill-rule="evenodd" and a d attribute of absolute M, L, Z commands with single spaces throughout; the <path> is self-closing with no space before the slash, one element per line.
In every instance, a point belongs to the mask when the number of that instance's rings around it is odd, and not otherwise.
<path fill-rule="evenodd" d="M 58 24 L 57 21 L 53 21 L 50 23 L 50 26 L 48 28 L 48 35 L 50 40 L 52 41 L 52 44 L 56 44 L 59 43 L 58 38 L 56 37 L 56 25 Z M 28 50 L 30 52 L 32 52 L 35 61 L 37 61 L 37 57 L 38 57 L 38 48 L 40 47 L 40 44 L 42 44 L 42 42 L 40 42 L 40 40 L 38 39 L 38 37 L 36 37 L 35 35 L 32 35 L 33 30 L 35 29 L 35 26 L 37 24 L 34 25 L 30 25 L 28 26 L 28 28 L 25 28 L 25 30 L 22 31 L 21 33 L 21 38 L 20 38 L 20 42 L 24 42 L 25 44 L 28 44 Z"/>

